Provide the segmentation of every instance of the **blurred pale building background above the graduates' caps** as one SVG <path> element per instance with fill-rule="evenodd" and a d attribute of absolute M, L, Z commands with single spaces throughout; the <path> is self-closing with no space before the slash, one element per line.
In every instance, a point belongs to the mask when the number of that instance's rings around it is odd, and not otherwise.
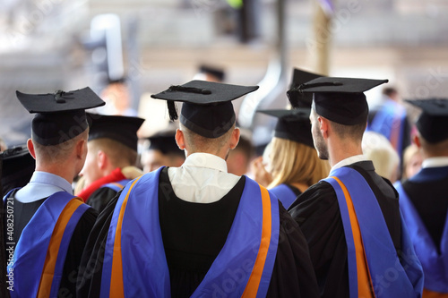
<path fill-rule="evenodd" d="M 13 146 L 30 135 L 15 90 L 90 86 L 110 98 L 110 83 L 123 81 L 112 93 L 125 93 L 124 107 L 102 112 L 145 117 L 147 136 L 168 123 L 151 94 L 193 80 L 202 64 L 224 82 L 261 86 L 234 102 L 255 145 L 272 123 L 254 110 L 287 106 L 294 67 L 446 98 L 448 1 L 0 0 L 0 137 Z M 367 95 L 375 103 L 381 89 Z"/>

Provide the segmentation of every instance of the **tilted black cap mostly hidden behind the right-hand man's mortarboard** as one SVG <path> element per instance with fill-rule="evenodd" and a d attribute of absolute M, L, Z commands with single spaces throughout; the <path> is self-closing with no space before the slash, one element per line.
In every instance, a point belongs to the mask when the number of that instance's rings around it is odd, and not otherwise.
<path fill-rule="evenodd" d="M 305 84 L 308 81 L 312 81 L 320 77 L 322 77 L 322 75 L 320 74 L 305 72 L 298 68 L 294 69 L 292 73 L 292 81 L 289 85 L 289 90 L 286 92 L 292 107 L 311 108 L 311 103 L 313 102 L 313 94 L 299 92 L 297 90 L 297 87 Z"/>

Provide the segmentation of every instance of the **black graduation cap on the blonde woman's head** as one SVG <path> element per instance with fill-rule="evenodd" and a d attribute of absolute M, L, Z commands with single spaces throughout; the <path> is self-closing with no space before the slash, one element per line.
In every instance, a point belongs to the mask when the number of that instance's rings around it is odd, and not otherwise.
<path fill-rule="evenodd" d="M 311 135 L 311 123 L 309 121 L 309 108 L 297 108 L 292 110 L 258 110 L 258 113 L 279 118 L 275 126 L 274 137 L 286 140 L 294 140 L 314 148 Z"/>

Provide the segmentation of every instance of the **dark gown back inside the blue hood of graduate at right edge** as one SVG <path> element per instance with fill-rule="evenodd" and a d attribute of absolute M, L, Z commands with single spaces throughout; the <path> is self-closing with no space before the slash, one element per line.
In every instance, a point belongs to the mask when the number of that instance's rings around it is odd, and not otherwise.
<path fill-rule="evenodd" d="M 403 183 L 403 189 L 440 253 L 440 243 L 448 211 L 448 200 L 446 198 L 448 193 L 448 167 L 446 167 L 444 174 L 432 174 L 439 169 L 422 169 L 414 178 Z"/>

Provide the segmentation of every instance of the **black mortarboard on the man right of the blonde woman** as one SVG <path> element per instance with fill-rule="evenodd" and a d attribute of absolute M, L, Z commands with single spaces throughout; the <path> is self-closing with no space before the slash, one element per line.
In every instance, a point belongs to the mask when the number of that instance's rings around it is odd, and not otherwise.
<path fill-rule="evenodd" d="M 321 77 L 297 87 L 299 92 L 313 93 L 318 115 L 344 125 L 366 121 L 368 105 L 364 91 L 388 80 Z"/>

